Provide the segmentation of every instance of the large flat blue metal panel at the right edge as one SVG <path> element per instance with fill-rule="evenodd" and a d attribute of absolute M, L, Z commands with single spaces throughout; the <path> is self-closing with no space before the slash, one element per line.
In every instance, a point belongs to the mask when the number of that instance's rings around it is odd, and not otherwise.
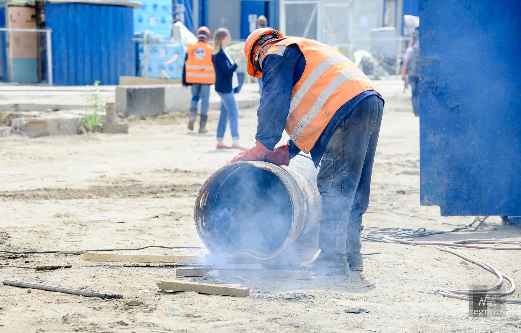
<path fill-rule="evenodd" d="M 421 204 L 521 215 L 521 2 L 420 2 Z"/>

